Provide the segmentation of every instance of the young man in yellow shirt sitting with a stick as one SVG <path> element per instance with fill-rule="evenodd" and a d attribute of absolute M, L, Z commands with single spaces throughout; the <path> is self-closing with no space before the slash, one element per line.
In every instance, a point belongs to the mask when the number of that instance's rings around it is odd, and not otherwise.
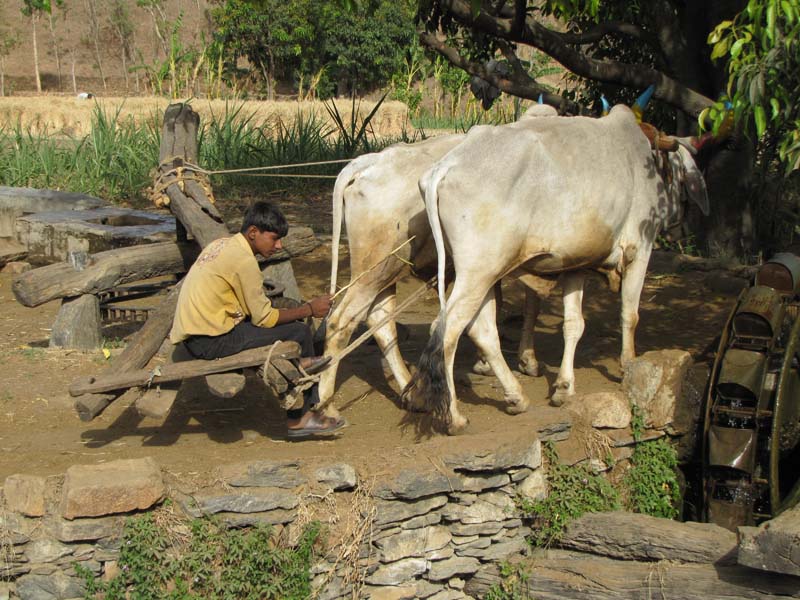
<path fill-rule="evenodd" d="M 206 246 L 183 280 L 170 341 L 183 343 L 192 356 L 207 360 L 295 341 L 306 373 L 321 371 L 330 358 L 313 355 L 311 329 L 301 319 L 327 315 L 330 295 L 297 308 L 274 308 L 264 293 L 255 257 L 269 258 L 280 250 L 288 230 L 280 210 L 269 202 L 256 202 L 245 213 L 239 233 Z M 318 402 L 314 385 L 305 393 L 302 409 L 287 411 L 288 437 L 328 435 L 344 427 L 344 419 L 310 410 Z"/>

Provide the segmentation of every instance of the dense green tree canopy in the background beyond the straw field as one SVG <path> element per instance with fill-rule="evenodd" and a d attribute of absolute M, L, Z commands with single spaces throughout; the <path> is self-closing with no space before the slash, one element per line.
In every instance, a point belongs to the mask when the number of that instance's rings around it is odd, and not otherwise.
<path fill-rule="evenodd" d="M 226 51 L 246 57 L 269 88 L 296 78 L 323 97 L 386 85 L 416 35 L 409 0 L 352 9 L 313 0 L 224 0 L 212 14 Z"/>

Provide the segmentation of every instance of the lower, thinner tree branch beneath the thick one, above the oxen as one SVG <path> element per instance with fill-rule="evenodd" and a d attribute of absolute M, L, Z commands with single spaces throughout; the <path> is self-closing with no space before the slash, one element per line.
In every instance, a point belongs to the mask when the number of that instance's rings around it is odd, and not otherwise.
<path fill-rule="evenodd" d="M 507 94 L 519 96 L 520 98 L 528 98 L 529 100 L 536 100 L 541 94 L 544 101 L 547 104 L 557 107 L 559 112 L 573 114 L 579 112 L 579 106 L 576 103 L 558 94 L 551 94 L 545 86 L 539 84 L 535 79 L 525 73 L 523 69 L 513 69 L 511 78 L 499 77 L 496 73 L 490 73 L 485 65 L 467 60 L 461 56 L 455 48 L 448 46 L 431 33 L 423 31 L 419 34 L 419 39 L 424 46 L 438 52 L 454 66 L 466 71 L 470 75 L 488 81 Z M 519 60 L 517 60 L 517 63 L 518 62 Z"/>

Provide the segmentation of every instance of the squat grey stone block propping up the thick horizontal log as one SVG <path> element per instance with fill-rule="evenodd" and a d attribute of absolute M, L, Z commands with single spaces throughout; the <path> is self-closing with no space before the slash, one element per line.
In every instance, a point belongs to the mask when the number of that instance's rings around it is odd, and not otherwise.
<path fill-rule="evenodd" d="M 100 301 L 93 294 L 64 298 L 50 333 L 51 348 L 96 350 L 103 344 Z"/>

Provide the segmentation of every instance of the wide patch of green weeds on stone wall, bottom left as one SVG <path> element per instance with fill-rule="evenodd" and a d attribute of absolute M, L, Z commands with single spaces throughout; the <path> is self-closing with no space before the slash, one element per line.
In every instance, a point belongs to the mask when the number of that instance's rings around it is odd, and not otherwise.
<path fill-rule="evenodd" d="M 321 526 L 307 526 L 295 547 L 276 545 L 269 526 L 225 529 L 211 519 L 181 523 L 170 535 L 153 513 L 125 523 L 120 574 L 96 578 L 78 563 L 85 598 L 105 600 L 301 599 L 311 596 L 309 569 Z"/>

